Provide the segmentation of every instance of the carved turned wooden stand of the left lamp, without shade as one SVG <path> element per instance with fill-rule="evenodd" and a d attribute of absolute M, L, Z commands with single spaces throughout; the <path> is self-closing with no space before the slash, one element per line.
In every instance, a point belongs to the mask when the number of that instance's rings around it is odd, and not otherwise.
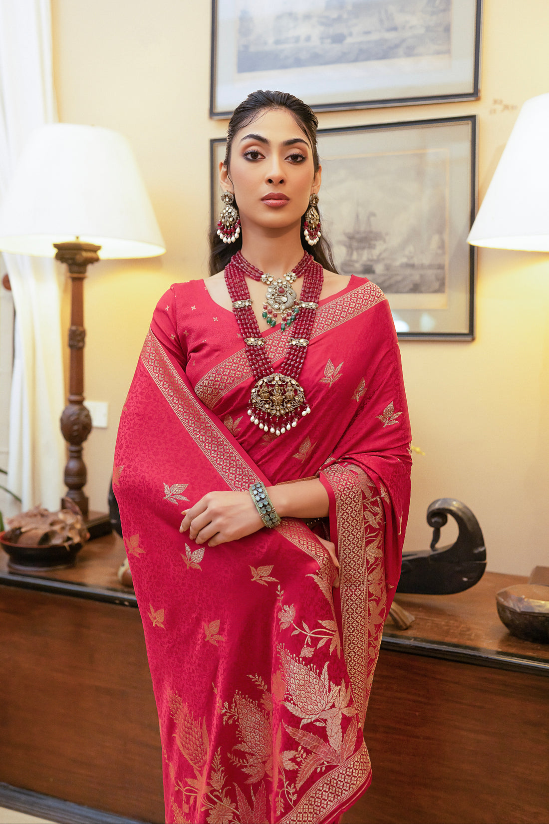
<path fill-rule="evenodd" d="M 82 241 L 54 243 L 56 260 L 68 265 L 71 279 L 71 326 L 68 330 L 70 369 L 68 378 L 68 405 L 61 415 L 61 432 L 68 443 L 68 461 L 65 466 L 65 498 L 77 504 L 84 517 L 88 514 L 87 496 L 82 487 L 86 484 L 86 464 L 82 459 L 82 443 L 92 430 L 92 419 L 84 406 L 84 300 L 83 287 L 88 265 L 99 260 L 101 246 Z"/>

